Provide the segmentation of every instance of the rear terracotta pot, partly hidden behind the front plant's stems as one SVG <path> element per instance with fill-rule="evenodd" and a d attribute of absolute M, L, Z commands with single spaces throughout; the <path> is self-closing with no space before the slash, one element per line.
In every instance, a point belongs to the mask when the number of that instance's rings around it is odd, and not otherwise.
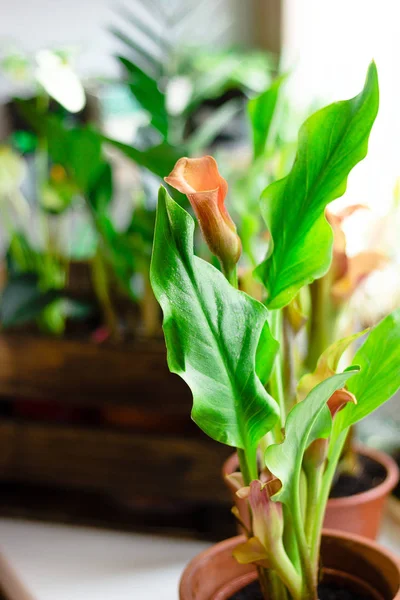
<path fill-rule="evenodd" d="M 356 452 L 381 464 L 385 468 L 387 476 L 382 483 L 366 492 L 328 500 L 324 527 L 347 531 L 375 540 L 379 533 L 387 498 L 399 479 L 399 469 L 396 462 L 388 454 L 379 450 L 357 445 Z M 233 486 L 225 478 L 226 475 L 234 473 L 238 468 L 237 454 L 234 453 L 225 461 L 222 474 L 232 492 L 242 519 L 248 524 L 249 516 L 246 501 L 240 500 L 236 496 Z"/>

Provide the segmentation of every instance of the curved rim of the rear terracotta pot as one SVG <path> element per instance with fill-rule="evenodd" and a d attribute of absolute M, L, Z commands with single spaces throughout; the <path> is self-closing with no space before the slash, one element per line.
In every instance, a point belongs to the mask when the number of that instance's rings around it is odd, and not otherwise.
<path fill-rule="evenodd" d="M 358 454 L 361 454 L 361 456 L 366 456 L 381 464 L 386 469 L 386 477 L 381 483 L 373 488 L 370 488 L 369 490 L 366 490 L 365 492 L 359 492 L 358 494 L 343 496 L 341 498 L 329 498 L 329 507 L 338 508 L 341 506 L 345 507 L 352 504 L 365 504 L 367 502 L 371 502 L 376 498 L 389 495 L 399 481 L 399 467 L 397 466 L 396 461 L 389 456 L 389 454 L 382 452 L 382 450 L 370 448 L 369 446 L 360 443 L 354 444 L 354 448 Z M 234 452 L 223 464 L 222 475 L 224 479 L 225 476 L 229 475 L 233 468 L 237 467 L 238 465 L 239 462 L 237 460 L 237 455 L 236 452 Z"/>

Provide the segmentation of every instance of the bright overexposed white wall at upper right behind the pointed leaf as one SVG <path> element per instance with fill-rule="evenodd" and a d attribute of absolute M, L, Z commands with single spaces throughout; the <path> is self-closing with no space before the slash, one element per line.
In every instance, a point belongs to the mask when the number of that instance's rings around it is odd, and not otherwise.
<path fill-rule="evenodd" d="M 399 0 L 284 0 L 285 63 L 299 105 L 351 98 L 371 59 L 380 80 L 380 110 L 368 157 L 349 179 L 347 197 L 384 212 L 400 176 Z"/>

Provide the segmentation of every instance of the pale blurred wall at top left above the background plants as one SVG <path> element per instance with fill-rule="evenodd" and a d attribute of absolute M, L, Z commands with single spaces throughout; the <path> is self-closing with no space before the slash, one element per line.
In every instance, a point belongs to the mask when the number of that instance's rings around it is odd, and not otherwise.
<path fill-rule="evenodd" d="M 158 0 L 166 7 L 185 0 Z M 110 24 L 121 25 L 117 7 L 134 10 L 134 0 L 0 0 L 0 51 L 10 48 L 34 51 L 46 47 L 75 46 L 80 50 L 79 72 L 83 75 L 113 75 L 117 72 L 112 54 L 118 43 L 107 31 Z M 150 2 L 148 2 L 150 5 Z M 198 3 L 199 4 L 199 3 Z M 231 43 L 248 37 L 246 3 L 243 0 L 214 0 L 205 9 L 193 12 L 191 39 Z M 0 80 L 0 94 L 6 91 Z"/>

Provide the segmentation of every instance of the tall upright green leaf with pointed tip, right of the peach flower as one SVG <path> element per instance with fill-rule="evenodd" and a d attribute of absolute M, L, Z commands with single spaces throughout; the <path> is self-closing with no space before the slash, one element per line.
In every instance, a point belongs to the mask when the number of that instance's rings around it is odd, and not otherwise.
<path fill-rule="evenodd" d="M 325 207 L 344 194 L 351 169 L 366 156 L 378 104 L 372 63 L 358 96 L 331 104 L 304 123 L 291 172 L 264 191 L 263 216 L 272 241 L 256 275 L 266 287 L 269 308 L 287 305 L 328 270 L 333 236 Z"/>

